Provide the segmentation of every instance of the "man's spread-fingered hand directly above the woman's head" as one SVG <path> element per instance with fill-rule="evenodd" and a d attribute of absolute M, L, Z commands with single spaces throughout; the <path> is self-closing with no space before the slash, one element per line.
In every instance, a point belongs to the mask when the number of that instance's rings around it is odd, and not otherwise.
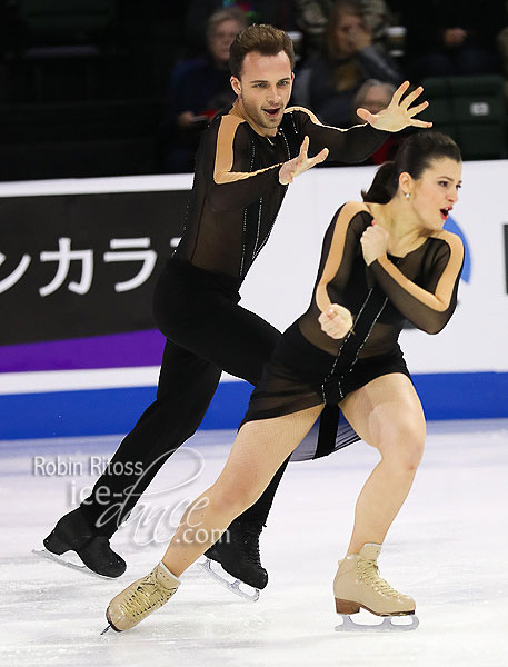
<path fill-rule="evenodd" d="M 428 102 L 421 102 L 416 107 L 410 107 L 412 102 L 421 94 L 424 88 L 419 86 L 412 92 L 407 94 L 404 99 L 402 96 L 409 88 L 409 81 L 405 81 L 394 92 L 390 103 L 386 109 L 381 109 L 379 113 L 370 113 L 367 109 L 357 109 L 358 116 L 371 125 L 377 130 L 387 130 L 388 132 L 398 132 L 409 126 L 417 128 L 431 128 L 432 123 L 427 120 L 419 120 L 415 118 L 417 113 L 424 111 L 429 106 Z"/>

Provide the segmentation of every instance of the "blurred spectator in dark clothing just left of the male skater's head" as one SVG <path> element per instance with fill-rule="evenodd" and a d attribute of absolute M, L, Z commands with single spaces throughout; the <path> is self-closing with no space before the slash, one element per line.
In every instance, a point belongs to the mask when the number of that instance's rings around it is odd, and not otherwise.
<path fill-rule="evenodd" d="M 246 27 L 247 20 L 240 9 L 218 10 L 207 23 L 207 54 L 175 66 L 162 123 L 165 171 L 192 171 L 201 131 L 219 109 L 235 101 L 229 47 Z"/>

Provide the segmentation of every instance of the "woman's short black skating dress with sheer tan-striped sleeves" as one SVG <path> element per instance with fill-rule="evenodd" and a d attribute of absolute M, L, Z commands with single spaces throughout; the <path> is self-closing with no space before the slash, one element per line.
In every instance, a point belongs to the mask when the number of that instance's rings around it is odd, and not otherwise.
<path fill-rule="evenodd" d="M 397 342 L 404 320 L 436 334 L 450 319 L 464 261 L 460 238 L 441 230 L 405 257 L 387 256 L 367 267 L 360 238 L 371 221 L 368 206 L 357 202 L 333 217 L 309 309 L 279 340 L 242 424 L 325 402 L 321 446 L 333 445 L 342 398 L 382 375 L 410 378 Z M 325 334 L 318 322 L 328 299 L 353 317 L 353 331 L 342 339 Z"/>

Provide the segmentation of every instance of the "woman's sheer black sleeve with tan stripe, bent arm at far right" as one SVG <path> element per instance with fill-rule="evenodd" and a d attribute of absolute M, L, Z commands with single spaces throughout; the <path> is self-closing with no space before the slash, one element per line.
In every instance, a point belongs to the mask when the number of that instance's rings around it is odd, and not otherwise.
<path fill-rule="evenodd" d="M 457 305 L 457 290 L 464 263 L 462 241 L 455 233 L 440 231 L 429 239 L 420 282 L 409 280 L 384 256 L 370 265 L 377 282 L 394 306 L 418 329 L 440 331 Z"/>

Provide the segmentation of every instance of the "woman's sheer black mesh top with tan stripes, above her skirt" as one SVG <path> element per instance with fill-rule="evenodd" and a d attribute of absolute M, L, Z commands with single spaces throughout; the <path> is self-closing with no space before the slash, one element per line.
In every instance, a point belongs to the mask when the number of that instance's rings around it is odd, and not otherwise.
<path fill-rule="evenodd" d="M 381 288 L 385 302 L 379 316 L 370 319 L 371 329 L 361 341 L 359 357 L 392 350 L 405 319 L 428 334 L 437 334 L 457 303 L 464 261 L 458 236 L 445 230 L 434 232 L 405 257 L 382 257 L 367 267 L 360 237 L 371 221 L 367 205 L 351 201 L 338 210 L 325 235 L 310 307 L 298 320 L 305 338 L 331 355 L 338 354 L 345 339 L 333 339 L 320 328 L 318 317 L 330 303 L 348 308 L 355 321 L 373 287 Z"/>

